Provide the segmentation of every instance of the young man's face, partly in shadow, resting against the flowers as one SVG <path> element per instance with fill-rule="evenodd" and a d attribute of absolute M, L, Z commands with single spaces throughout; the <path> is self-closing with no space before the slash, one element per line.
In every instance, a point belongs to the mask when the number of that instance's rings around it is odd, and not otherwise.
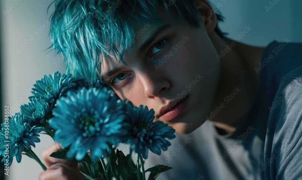
<path fill-rule="evenodd" d="M 102 61 L 101 77 L 120 67 L 104 82 L 122 100 L 127 98 L 134 106 L 153 108 L 154 121 L 163 121 L 178 133 L 190 133 L 206 121 L 212 108 L 220 63 L 204 27 L 196 29 L 188 23 L 182 24 L 177 15 L 174 17 L 171 19 L 159 7 L 164 30 L 139 55 L 142 45 L 162 26 L 134 23 L 134 47 L 123 56 L 128 66 L 107 56 Z M 176 105 L 172 108 L 169 104 Z M 160 116 L 165 106 L 172 111 Z"/>

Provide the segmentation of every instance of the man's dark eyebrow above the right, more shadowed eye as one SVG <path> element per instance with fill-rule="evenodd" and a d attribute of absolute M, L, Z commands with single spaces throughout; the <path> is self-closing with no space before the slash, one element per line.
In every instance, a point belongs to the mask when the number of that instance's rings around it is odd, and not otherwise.
<path fill-rule="evenodd" d="M 140 48 L 137 50 L 137 55 L 135 56 L 135 58 L 137 58 L 137 59 L 140 58 L 142 53 L 146 50 L 147 47 L 149 47 L 149 45 L 153 42 L 153 40 L 156 39 L 157 36 L 159 36 L 164 31 L 168 30 L 171 27 L 173 27 L 172 24 L 163 24 L 163 25 L 159 26 L 156 30 L 154 30 L 151 33 L 150 37 L 146 40 L 146 42 L 143 43 L 140 46 Z"/>

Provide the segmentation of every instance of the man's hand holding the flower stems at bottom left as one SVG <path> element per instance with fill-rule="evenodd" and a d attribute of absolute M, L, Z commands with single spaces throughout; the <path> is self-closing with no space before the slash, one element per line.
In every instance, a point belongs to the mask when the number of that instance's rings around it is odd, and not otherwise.
<path fill-rule="evenodd" d="M 77 163 L 65 159 L 50 157 L 53 152 L 62 149 L 59 143 L 55 143 L 42 153 L 42 157 L 47 167 L 39 175 L 39 180 L 85 180 L 85 176 L 78 170 Z"/>

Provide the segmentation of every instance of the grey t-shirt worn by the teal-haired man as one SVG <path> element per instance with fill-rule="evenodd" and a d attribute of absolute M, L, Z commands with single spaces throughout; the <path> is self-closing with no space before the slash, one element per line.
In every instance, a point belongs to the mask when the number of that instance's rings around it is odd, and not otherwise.
<path fill-rule="evenodd" d="M 149 152 L 145 168 L 173 168 L 157 180 L 302 179 L 302 43 L 271 42 L 255 71 L 257 98 L 233 133 L 220 135 L 207 120 L 175 133 L 160 156 Z"/>

